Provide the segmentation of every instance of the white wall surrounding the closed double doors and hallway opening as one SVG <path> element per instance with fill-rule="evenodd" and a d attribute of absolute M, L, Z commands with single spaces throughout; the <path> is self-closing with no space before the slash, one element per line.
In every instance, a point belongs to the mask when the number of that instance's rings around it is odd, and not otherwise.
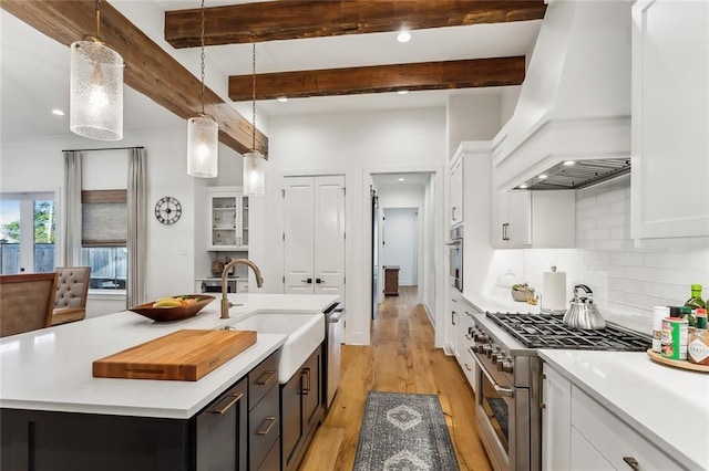
<path fill-rule="evenodd" d="M 287 175 L 346 176 L 348 344 L 369 344 L 371 299 L 370 174 L 445 168 L 445 109 L 274 117 L 269 121 L 266 192 L 250 201 L 249 258 L 263 269 L 264 291 L 282 292 L 281 184 Z M 436 195 L 442 207 L 442 195 Z M 442 211 L 439 211 L 442 213 Z M 436 228 L 444 240 L 442 214 Z M 433 245 L 432 245 L 433 247 Z M 441 257 L 438 260 L 442 260 Z M 442 308 L 440 310 L 442 311 Z"/>

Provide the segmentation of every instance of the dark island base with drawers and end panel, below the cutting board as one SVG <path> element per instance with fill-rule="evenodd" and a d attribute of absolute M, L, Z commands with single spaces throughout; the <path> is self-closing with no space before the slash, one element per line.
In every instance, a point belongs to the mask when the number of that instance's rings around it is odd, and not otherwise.
<path fill-rule="evenodd" d="M 278 358 L 274 353 L 189 419 L 3 408 L 0 469 L 279 470 Z"/>

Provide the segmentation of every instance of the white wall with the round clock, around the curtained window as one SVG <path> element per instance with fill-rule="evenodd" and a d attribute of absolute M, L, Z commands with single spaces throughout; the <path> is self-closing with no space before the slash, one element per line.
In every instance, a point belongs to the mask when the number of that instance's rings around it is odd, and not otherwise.
<path fill-rule="evenodd" d="M 204 187 L 207 184 L 212 185 L 214 180 L 187 176 L 186 142 L 186 126 L 184 129 L 160 133 L 126 133 L 120 143 L 111 145 L 81 137 L 3 142 L 0 149 L 0 191 L 54 191 L 58 201 L 58 233 L 61 233 L 63 208 L 60 196 L 64 178 L 62 150 L 144 146 L 147 155 L 150 254 L 145 273 L 145 301 L 192 293 L 195 287 L 195 261 L 201 261 L 206 269 L 209 266 L 206 250 L 199 248 L 206 248 Z M 100 159 L 114 153 L 116 151 L 88 153 L 86 159 L 91 159 L 88 163 L 88 171 L 92 181 L 101 178 L 102 172 L 109 175 L 113 171 L 110 166 L 102 166 Z M 224 175 L 219 178 L 224 185 L 236 185 L 236 178 L 240 180 L 239 155 L 224 146 L 219 147 L 219 174 Z M 233 163 L 228 164 L 229 161 Z M 230 166 L 238 167 L 238 171 Z M 229 177 L 230 175 L 234 177 Z M 174 226 L 163 226 L 153 216 L 154 205 L 163 196 L 173 196 L 182 203 L 182 219 Z M 58 240 L 58 245 L 61 243 L 61 240 Z M 63 260 L 56 262 L 61 264 Z M 116 299 L 115 295 L 92 295 L 86 307 L 88 316 L 91 317 L 121 311 L 125 308 L 125 301 L 120 296 Z"/>

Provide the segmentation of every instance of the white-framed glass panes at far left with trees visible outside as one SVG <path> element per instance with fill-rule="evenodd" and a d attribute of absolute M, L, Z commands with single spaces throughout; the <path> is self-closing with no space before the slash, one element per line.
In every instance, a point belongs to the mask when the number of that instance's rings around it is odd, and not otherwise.
<path fill-rule="evenodd" d="M 55 266 L 53 193 L 0 195 L 0 273 L 51 272 Z"/>

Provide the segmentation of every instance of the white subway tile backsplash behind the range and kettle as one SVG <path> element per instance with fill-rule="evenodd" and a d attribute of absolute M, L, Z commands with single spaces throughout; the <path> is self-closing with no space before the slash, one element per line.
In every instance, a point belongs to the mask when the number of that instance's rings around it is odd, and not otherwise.
<path fill-rule="evenodd" d="M 651 332 L 654 305 L 682 305 L 689 285 L 709 296 L 709 247 L 635 248 L 630 239 L 629 176 L 576 193 L 577 249 L 523 251 L 525 281 L 542 296 L 542 273 L 566 272 L 571 300 L 575 284 L 587 284 L 604 316 L 638 332 Z"/>

